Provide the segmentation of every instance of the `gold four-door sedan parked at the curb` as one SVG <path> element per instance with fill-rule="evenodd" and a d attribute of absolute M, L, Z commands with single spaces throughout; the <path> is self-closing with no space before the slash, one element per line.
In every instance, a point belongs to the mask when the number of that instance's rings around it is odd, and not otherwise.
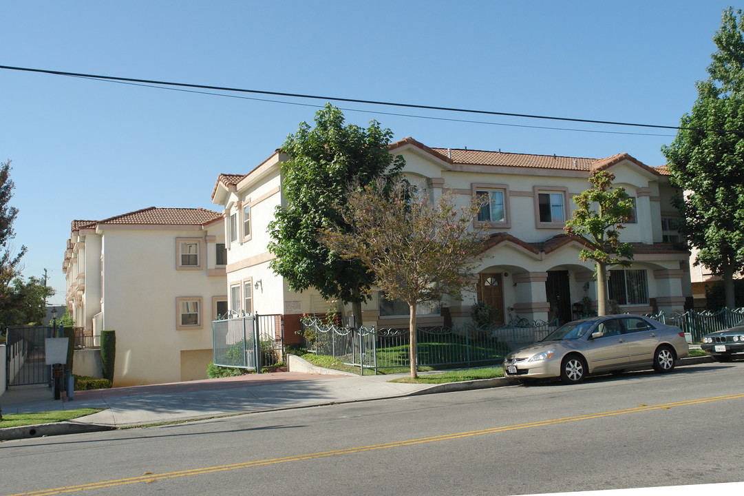
<path fill-rule="evenodd" d="M 575 384 L 588 374 L 653 367 L 671 372 L 689 353 L 684 333 L 639 315 L 609 315 L 574 320 L 544 340 L 510 352 L 504 375 L 510 378 L 560 378 Z"/>

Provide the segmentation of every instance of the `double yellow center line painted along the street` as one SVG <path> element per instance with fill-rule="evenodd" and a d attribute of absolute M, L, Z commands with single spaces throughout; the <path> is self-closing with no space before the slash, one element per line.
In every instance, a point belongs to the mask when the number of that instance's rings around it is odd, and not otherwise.
<path fill-rule="evenodd" d="M 424 444 L 427 442 L 447 441 L 450 439 L 461 439 L 464 437 L 471 437 L 471 436 L 483 436 L 484 434 L 507 432 L 510 430 L 529 429 L 531 427 L 545 427 L 546 425 L 563 424 L 565 422 L 579 422 L 582 420 L 602 419 L 605 417 L 626 415 L 627 413 L 647 412 L 650 410 L 668 410 L 674 407 L 687 407 L 687 406 L 691 406 L 695 404 L 710 403 L 711 401 L 725 401 L 725 400 L 733 400 L 733 399 L 739 399 L 739 398 L 744 398 L 744 393 L 734 394 L 734 395 L 725 395 L 725 396 L 715 396 L 711 398 L 699 398 L 699 399 L 687 400 L 687 401 L 675 401 L 673 403 L 665 403 L 665 404 L 657 404 L 657 405 L 641 404 L 641 405 L 638 405 L 637 407 L 626 408 L 625 410 L 613 410 L 609 412 L 589 413 L 586 415 L 580 415 L 580 416 L 574 416 L 574 417 L 563 417 L 562 419 L 540 420 L 537 422 L 527 422 L 526 424 L 507 425 L 504 427 L 491 427 L 489 429 L 481 429 L 481 430 L 469 430 L 466 432 L 442 434 L 440 436 L 422 437 L 418 439 L 405 439 L 402 441 L 385 442 L 379 445 L 357 446 L 354 448 L 343 448 L 343 449 L 333 450 L 333 451 L 321 451 L 318 453 L 301 454 L 301 455 L 295 455 L 292 457 L 270 458 L 267 460 L 256 460 L 254 462 L 234 463 L 231 465 L 217 465 L 214 467 L 192 468 L 190 470 L 167 472 L 163 474 L 145 474 L 140 477 L 106 480 L 106 481 L 102 481 L 98 483 L 81 484 L 80 486 L 66 486 L 66 487 L 59 487 L 55 489 L 44 489 L 41 491 L 34 491 L 34 492 L 22 492 L 22 493 L 16 493 L 15 495 L 9 495 L 9 496 L 60 495 L 63 493 L 89 491 L 90 489 L 100 489 L 104 487 L 124 486 L 126 484 L 149 483 L 155 480 L 173 479 L 176 477 L 212 474 L 214 472 L 238 470 L 240 468 L 260 467 L 262 465 L 275 465 L 277 463 L 286 463 L 286 462 L 299 462 L 302 460 L 313 460 L 315 458 L 336 457 L 336 456 L 344 455 L 344 454 L 361 453 L 363 451 L 400 448 L 403 446 L 420 445 L 420 444 Z"/>

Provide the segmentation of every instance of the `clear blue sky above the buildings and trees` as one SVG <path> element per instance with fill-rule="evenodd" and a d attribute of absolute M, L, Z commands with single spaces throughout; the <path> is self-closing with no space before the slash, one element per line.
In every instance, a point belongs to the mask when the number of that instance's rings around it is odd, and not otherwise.
<path fill-rule="evenodd" d="M 727 5 L 5 0 L 0 65 L 675 126 L 707 75 Z M 71 220 L 148 206 L 219 210 L 210 199 L 217 175 L 250 171 L 323 104 L 255 98 L 263 101 L 0 70 L 0 159 L 13 160 L 23 275 L 47 268 L 51 302 L 61 304 Z M 432 147 L 626 152 L 656 166 L 674 134 L 337 104 L 349 122 L 375 118 L 395 139 Z"/>

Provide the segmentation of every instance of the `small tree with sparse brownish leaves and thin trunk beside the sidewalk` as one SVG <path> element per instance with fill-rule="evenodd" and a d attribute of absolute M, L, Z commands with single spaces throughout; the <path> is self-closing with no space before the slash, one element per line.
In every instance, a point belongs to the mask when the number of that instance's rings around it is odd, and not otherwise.
<path fill-rule="evenodd" d="M 416 311 L 422 302 L 440 302 L 443 295 L 460 299 L 472 286 L 484 231 L 472 229 L 480 203 L 459 210 L 455 194 L 443 191 L 432 202 L 426 192 L 407 182 L 367 185 L 347 197 L 343 216 L 353 232 L 326 229 L 321 241 L 347 260 L 369 268 L 373 283 L 387 299 L 408 304 L 411 378 L 418 376 Z"/>

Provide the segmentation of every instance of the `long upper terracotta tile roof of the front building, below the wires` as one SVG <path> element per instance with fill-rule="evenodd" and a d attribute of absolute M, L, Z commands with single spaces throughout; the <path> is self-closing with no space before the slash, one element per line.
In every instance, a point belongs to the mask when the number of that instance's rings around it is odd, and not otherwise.
<path fill-rule="evenodd" d="M 639 165 L 642 168 L 658 174 L 654 168 L 650 168 L 643 162 L 630 156 L 628 153 L 618 153 L 617 155 L 606 159 L 592 159 L 578 156 L 557 156 L 557 155 L 534 155 L 531 153 L 508 153 L 487 150 L 467 150 L 461 148 L 431 148 L 425 144 L 417 142 L 408 136 L 394 142 L 388 148 L 391 152 L 397 148 L 410 144 L 420 150 L 426 151 L 436 156 L 438 159 L 448 162 L 449 164 L 461 165 L 494 165 L 499 167 L 519 167 L 519 168 L 540 168 L 540 169 L 562 169 L 566 171 L 594 171 L 611 167 L 623 160 Z"/>

